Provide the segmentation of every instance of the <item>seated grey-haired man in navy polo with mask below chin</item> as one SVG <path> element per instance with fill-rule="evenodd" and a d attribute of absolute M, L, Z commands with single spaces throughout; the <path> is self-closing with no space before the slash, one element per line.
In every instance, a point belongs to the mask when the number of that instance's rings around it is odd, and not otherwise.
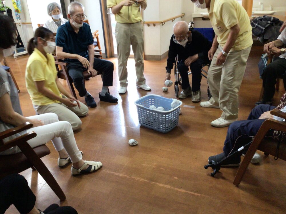
<path fill-rule="evenodd" d="M 97 72 L 103 73 L 102 91 L 99 93 L 100 101 L 116 103 L 117 98 L 108 93 L 108 86 L 112 86 L 113 63 L 94 57 L 93 37 L 90 26 L 84 23 L 86 15 L 84 7 L 79 2 L 72 2 L 68 7 L 69 21 L 61 25 L 57 30 L 56 54 L 65 58 L 68 63 L 69 76 L 74 81 L 74 86 L 81 97 L 85 97 L 87 106 L 96 107 L 96 102 L 86 90 L 83 71 L 87 70 L 92 77 Z"/>

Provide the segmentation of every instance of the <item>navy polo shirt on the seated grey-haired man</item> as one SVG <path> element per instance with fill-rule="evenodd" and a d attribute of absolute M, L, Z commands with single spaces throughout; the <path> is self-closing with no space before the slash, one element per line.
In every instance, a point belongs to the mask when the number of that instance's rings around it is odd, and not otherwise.
<path fill-rule="evenodd" d="M 88 59 L 88 46 L 94 43 L 90 26 L 84 23 L 78 33 L 74 32 L 69 21 L 57 29 L 56 46 L 62 47 L 63 52 L 78 54 Z M 77 59 L 66 59 L 64 62 L 79 62 Z"/>

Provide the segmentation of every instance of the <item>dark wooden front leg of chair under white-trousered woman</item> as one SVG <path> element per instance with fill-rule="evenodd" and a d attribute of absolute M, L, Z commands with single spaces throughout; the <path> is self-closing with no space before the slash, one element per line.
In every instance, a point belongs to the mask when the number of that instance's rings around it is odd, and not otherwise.
<path fill-rule="evenodd" d="M 65 200 L 65 193 L 63 193 L 61 187 L 49 171 L 49 169 L 46 167 L 46 165 L 43 163 L 43 161 L 37 156 L 35 151 L 31 148 L 31 146 L 24 142 L 23 144 L 19 144 L 20 150 L 25 154 L 27 159 L 33 164 L 35 169 L 40 173 L 40 175 L 43 177 L 43 179 L 47 182 L 47 184 L 51 187 L 51 189 L 54 191 L 54 193 L 59 197 L 61 201 Z M 29 155 L 27 155 L 29 154 Z"/>

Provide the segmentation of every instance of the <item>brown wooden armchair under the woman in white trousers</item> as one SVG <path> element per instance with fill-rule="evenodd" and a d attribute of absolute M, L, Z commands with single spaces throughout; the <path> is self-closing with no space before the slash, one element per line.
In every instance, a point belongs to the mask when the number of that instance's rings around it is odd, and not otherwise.
<path fill-rule="evenodd" d="M 50 154 L 49 148 L 44 144 L 31 148 L 27 143 L 28 140 L 37 136 L 35 132 L 27 132 L 13 140 L 3 143 L 3 139 L 14 134 L 17 134 L 21 131 L 31 128 L 33 124 L 26 122 L 15 128 L 8 129 L 0 133 L 0 152 L 3 152 L 13 146 L 18 146 L 21 153 L 12 154 L 12 155 L 2 155 L 0 156 L 0 178 L 3 178 L 7 175 L 13 173 L 20 173 L 30 167 L 36 169 L 51 189 L 55 192 L 57 197 L 60 200 L 65 200 L 65 194 L 63 193 L 61 187 L 45 166 L 43 161 L 40 159 L 48 154 Z"/>

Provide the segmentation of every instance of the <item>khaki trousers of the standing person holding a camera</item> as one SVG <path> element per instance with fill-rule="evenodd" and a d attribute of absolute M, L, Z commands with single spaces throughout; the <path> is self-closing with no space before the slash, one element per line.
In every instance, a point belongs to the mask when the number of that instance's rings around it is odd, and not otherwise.
<path fill-rule="evenodd" d="M 127 60 L 130 55 L 130 45 L 134 53 L 135 70 L 137 76 L 137 84 L 145 84 L 144 77 L 144 40 L 143 40 L 143 26 L 141 22 L 137 23 L 116 23 L 115 37 L 118 54 L 118 76 L 120 86 L 127 86 Z"/>

